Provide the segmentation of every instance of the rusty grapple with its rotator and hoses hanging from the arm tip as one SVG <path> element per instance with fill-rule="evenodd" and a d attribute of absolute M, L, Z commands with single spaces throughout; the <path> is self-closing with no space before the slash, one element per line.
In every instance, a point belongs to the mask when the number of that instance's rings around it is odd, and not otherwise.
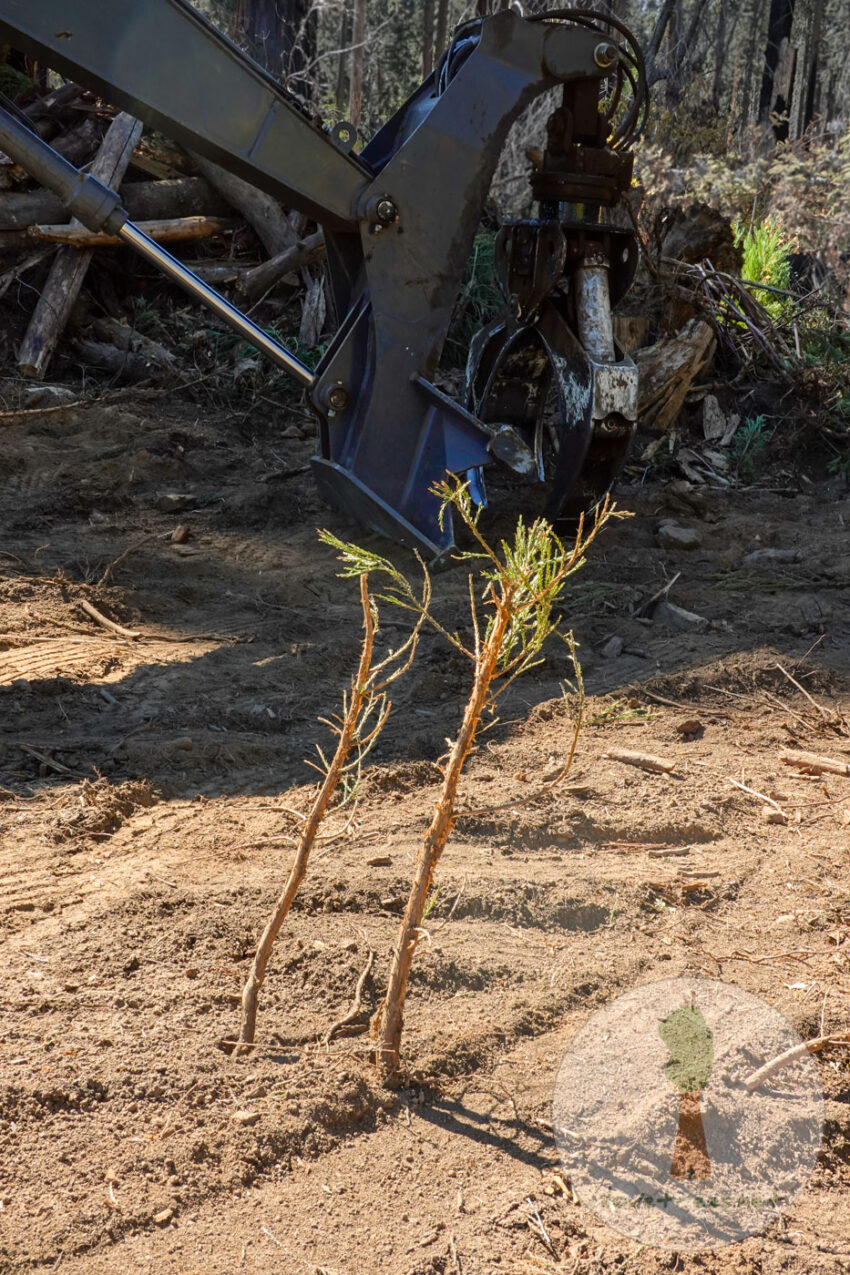
<path fill-rule="evenodd" d="M 466 404 L 510 423 L 534 451 L 545 513 L 571 518 L 609 490 L 637 418 L 637 368 L 614 340 L 612 306 L 631 287 L 637 242 L 624 200 L 630 147 L 646 111 L 644 62 L 609 15 L 554 10 L 548 22 L 598 34 L 594 62 L 610 80 L 563 87 L 531 176 L 539 217 L 500 232 L 496 266 L 507 312 L 469 354 Z M 628 92 L 627 92 L 628 91 Z M 483 493 L 483 478 L 479 476 Z"/>

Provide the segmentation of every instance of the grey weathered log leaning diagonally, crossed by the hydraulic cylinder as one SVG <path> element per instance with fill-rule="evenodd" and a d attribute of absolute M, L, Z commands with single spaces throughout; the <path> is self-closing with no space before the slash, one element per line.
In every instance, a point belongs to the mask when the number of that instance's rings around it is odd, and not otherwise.
<path fill-rule="evenodd" d="M 140 136 L 141 121 L 122 111 L 103 138 L 90 167 L 92 176 L 107 186 L 119 185 Z M 64 247 L 56 254 L 18 351 L 18 371 L 22 376 L 43 377 L 83 287 L 90 260 L 90 249 L 78 251 Z"/>

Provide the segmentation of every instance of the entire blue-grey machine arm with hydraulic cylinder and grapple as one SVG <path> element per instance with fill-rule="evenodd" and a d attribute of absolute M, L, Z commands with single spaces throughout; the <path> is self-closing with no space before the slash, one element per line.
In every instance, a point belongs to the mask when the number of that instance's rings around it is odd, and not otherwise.
<path fill-rule="evenodd" d="M 552 518 L 608 488 L 636 417 L 610 305 L 636 268 L 618 204 L 646 106 L 622 24 L 584 10 L 466 23 L 359 154 L 350 127 L 315 122 L 187 0 L 0 0 L 0 38 L 324 227 L 340 324 L 311 374 L 133 226 L 115 193 L 0 111 L 0 149 L 73 215 L 155 260 L 307 386 L 313 472 L 336 505 L 433 557 L 452 543 L 432 492 L 446 470 L 483 500 L 483 469 L 501 462 L 548 483 Z M 531 177 L 539 217 L 500 233 L 506 314 L 473 340 L 461 404 L 433 379 L 482 209 L 511 124 L 558 85 Z"/>

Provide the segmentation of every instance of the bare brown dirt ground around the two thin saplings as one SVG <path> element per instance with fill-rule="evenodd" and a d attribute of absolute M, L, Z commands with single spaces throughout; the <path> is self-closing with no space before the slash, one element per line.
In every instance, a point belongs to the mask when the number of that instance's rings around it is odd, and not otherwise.
<path fill-rule="evenodd" d="M 798 745 L 850 759 L 846 488 L 621 487 L 635 516 L 604 533 L 567 606 L 589 691 L 575 768 L 533 796 L 572 729 L 556 652 L 470 764 L 477 813 L 441 864 L 409 1075 L 390 1091 L 366 1037 L 322 1038 L 370 950 L 366 1012 L 377 1003 L 459 720 L 468 669 L 436 635 L 278 941 L 259 1049 L 220 1047 L 285 872 L 315 718 L 357 652 L 356 590 L 315 528 L 378 546 L 319 502 L 310 441 L 279 432 L 144 398 L 3 428 L 0 1270 L 850 1270 L 846 1052 L 819 1056 L 808 1187 L 716 1253 L 603 1227 L 558 1176 L 551 1127 L 570 1040 L 635 986 L 702 974 L 803 1037 L 847 1028 L 850 779 L 779 761 Z M 700 546 L 661 548 L 664 516 Z M 763 547 L 799 560 L 743 565 Z M 705 631 L 633 615 L 677 571 L 670 598 Z M 465 623 L 463 574 L 435 588 L 441 617 Z M 623 650 L 604 658 L 612 636 Z"/>

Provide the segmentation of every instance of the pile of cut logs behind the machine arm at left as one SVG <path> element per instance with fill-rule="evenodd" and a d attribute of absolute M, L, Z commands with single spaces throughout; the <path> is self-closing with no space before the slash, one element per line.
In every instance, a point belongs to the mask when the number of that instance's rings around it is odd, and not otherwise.
<path fill-rule="evenodd" d="M 152 238 L 189 245 L 191 269 L 229 291 L 237 305 L 265 298 L 279 310 L 282 300 L 303 293 L 298 337 L 303 346 L 316 344 L 325 295 L 321 272 L 311 274 L 310 266 L 325 246 L 321 231 L 307 233 L 306 218 L 210 161 L 149 135 L 139 120 L 76 84 L 33 89 L 14 108 L 66 159 L 119 189 L 130 218 Z M 120 288 L 112 289 L 112 305 L 98 297 L 98 317 L 87 316 L 83 332 L 76 325 L 92 260 L 117 242 L 69 221 L 55 195 L 0 154 L 0 298 L 19 280 L 27 295 L 38 296 L 15 353 L 20 375 L 43 380 L 69 326 L 70 348 L 82 363 L 122 380 L 176 375 L 172 356 L 127 326 Z M 124 280 L 124 291 L 133 292 L 133 279 Z"/>

